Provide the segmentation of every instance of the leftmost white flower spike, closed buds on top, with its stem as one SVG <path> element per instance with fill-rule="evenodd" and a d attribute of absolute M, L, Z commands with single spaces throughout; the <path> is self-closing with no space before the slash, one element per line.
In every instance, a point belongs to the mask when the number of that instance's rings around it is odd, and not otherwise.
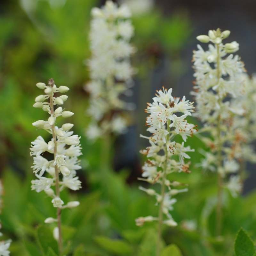
<path fill-rule="evenodd" d="M 81 169 L 78 156 L 82 155 L 82 148 L 80 137 L 73 135 L 73 132 L 70 131 L 73 124 L 66 123 L 60 128 L 55 125 L 57 117 L 70 117 L 74 114 L 70 111 L 63 111 L 62 107 L 58 107 L 68 99 L 67 95 L 56 97 L 56 94 L 68 92 L 69 88 L 67 86 L 57 88 L 52 78 L 48 81 L 48 85 L 37 83 L 36 86 L 44 90 L 45 93 L 36 97 L 36 103 L 40 103 L 40 108 L 47 112 L 50 117 L 47 121 L 39 120 L 34 122 L 33 126 L 52 134 L 52 139 L 46 143 L 42 136 L 38 136 L 35 141 L 31 142 L 30 155 L 34 156 L 34 165 L 31 168 L 37 178 L 31 181 L 31 189 L 36 190 L 36 192 L 44 191 L 48 196 L 52 197 L 53 207 L 57 208 L 57 218 L 48 217 L 45 223 L 57 222 L 58 228 L 55 231 L 58 231 L 58 236 L 56 237 L 58 237 L 59 251 L 61 253 L 61 210 L 76 207 L 79 203 L 74 204 L 72 201 L 65 204 L 60 198 L 60 192 L 64 188 L 72 190 L 81 188 L 81 181 L 76 176 L 76 170 Z M 36 104 L 35 106 L 35 104 L 34 107 L 39 108 L 39 105 Z M 51 160 L 42 156 L 45 152 L 53 155 Z M 52 187 L 55 187 L 55 191 Z"/>

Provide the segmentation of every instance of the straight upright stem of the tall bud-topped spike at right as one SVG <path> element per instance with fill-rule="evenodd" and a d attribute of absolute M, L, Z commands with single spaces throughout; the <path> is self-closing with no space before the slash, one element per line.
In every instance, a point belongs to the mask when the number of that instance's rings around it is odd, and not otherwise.
<path fill-rule="evenodd" d="M 220 81 L 221 72 L 220 72 L 220 46 L 217 44 L 217 77 L 218 83 Z M 221 104 L 221 98 L 219 97 L 219 105 Z M 220 236 L 221 234 L 221 222 L 222 222 L 222 187 L 223 187 L 223 178 L 219 172 L 219 169 L 222 166 L 222 141 L 221 141 L 221 117 L 218 116 L 217 122 L 217 172 L 218 172 L 218 199 L 217 199 L 217 209 L 216 209 L 216 235 Z"/>

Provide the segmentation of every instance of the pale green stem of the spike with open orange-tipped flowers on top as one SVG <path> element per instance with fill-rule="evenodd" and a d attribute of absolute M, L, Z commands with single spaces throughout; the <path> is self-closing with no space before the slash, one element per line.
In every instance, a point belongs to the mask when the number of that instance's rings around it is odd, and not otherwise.
<path fill-rule="evenodd" d="M 167 121 L 167 131 L 170 132 L 170 120 Z M 169 141 L 170 136 L 167 135 L 166 141 Z M 165 194 L 165 184 L 164 181 L 166 179 L 166 169 L 167 169 L 167 158 L 168 158 L 168 150 L 165 145 L 164 147 L 165 161 L 163 168 L 163 178 L 161 184 L 161 203 L 158 210 L 158 236 L 157 236 L 157 244 L 156 244 L 156 256 L 160 256 L 161 253 L 161 240 L 162 240 L 162 225 L 163 225 L 163 204 L 164 204 L 164 194 Z"/>

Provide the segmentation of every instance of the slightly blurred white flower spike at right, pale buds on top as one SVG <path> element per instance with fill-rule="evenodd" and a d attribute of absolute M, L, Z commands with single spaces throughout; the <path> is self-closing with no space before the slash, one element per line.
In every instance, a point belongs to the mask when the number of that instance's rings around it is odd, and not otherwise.
<path fill-rule="evenodd" d="M 219 28 L 209 30 L 208 36 L 197 36 L 197 39 L 202 43 L 213 44 L 209 44 L 206 51 L 197 45 L 198 50 L 193 52 L 196 81 L 192 94 L 196 99 L 195 115 L 204 123 L 201 131 L 211 135 L 211 138 L 202 137 L 211 152 L 204 152 L 205 159 L 201 166 L 217 171 L 222 178 L 239 170 L 236 158 L 229 154 L 232 150 L 230 145 L 237 139 L 232 132 L 233 122 L 230 117 L 244 114 L 241 104 L 232 104 L 232 99 L 244 93 L 245 69 L 239 56 L 233 55 L 239 50 L 239 44 L 236 41 L 222 43 L 229 34 L 230 31 L 221 32 Z M 231 187 L 232 194 L 234 187 L 236 192 L 241 188 L 239 183 L 237 186 L 228 186 Z"/>

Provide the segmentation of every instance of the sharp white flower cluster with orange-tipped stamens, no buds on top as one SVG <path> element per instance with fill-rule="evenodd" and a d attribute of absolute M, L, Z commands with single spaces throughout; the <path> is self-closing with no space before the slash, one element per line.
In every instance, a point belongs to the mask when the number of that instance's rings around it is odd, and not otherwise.
<path fill-rule="evenodd" d="M 172 197 L 188 189 L 179 189 L 183 184 L 170 181 L 168 175 L 173 172 L 190 172 L 189 163 L 185 160 L 190 158 L 187 153 L 194 149 L 185 146 L 184 141 L 186 142 L 187 137 L 196 131 L 195 125 L 186 120 L 186 117 L 191 116 L 191 112 L 194 111 L 193 102 L 186 100 L 185 96 L 182 99 L 173 98 L 172 89 L 167 91 L 163 88 L 157 92 L 153 103 L 148 103 L 145 111 L 149 113 L 146 119 L 147 131 L 152 135 L 150 137 L 141 135 L 142 138 L 148 139 L 150 146 L 141 150 L 148 159 L 142 167 L 142 178 L 139 180 L 160 184 L 161 193 L 157 193 L 152 188 L 141 186 L 139 188 L 148 195 L 155 196 L 156 204 L 160 204 L 160 207 L 158 217 L 140 217 L 136 219 L 136 224 L 141 226 L 146 221 L 157 220 L 168 226 L 176 226 L 177 223 L 172 219 L 170 211 L 177 200 Z M 184 140 L 182 143 L 173 140 L 177 135 Z M 163 213 L 166 216 L 165 220 L 163 220 Z"/>

